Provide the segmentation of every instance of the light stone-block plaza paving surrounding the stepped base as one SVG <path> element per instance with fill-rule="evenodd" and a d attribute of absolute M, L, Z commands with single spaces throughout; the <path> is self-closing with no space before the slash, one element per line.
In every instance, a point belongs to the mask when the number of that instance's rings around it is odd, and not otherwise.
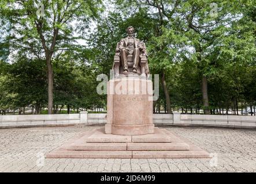
<path fill-rule="evenodd" d="M 168 127 L 213 159 L 45 159 L 68 139 L 102 126 L 0 129 L 0 172 L 256 172 L 256 131 Z"/>

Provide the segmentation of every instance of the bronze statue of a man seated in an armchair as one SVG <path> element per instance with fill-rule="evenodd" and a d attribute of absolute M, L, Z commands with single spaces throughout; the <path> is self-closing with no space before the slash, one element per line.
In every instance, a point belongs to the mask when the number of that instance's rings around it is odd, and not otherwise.
<path fill-rule="evenodd" d="M 128 37 L 117 43 L 114 55 L 113 70 L 115 77 L 119 74 L 127 75 L 131 72 L 147 77 L 149 66 L 147 63 L 146 46 L 143 41 L 134 37 L 134 28 L 127 28 Z"/>

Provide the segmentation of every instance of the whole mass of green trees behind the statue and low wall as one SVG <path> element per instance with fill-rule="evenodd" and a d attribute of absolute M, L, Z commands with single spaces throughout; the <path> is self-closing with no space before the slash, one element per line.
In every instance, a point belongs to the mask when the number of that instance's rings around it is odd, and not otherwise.
<path fill-rule="evenodd" d="M 151 74 L 161 78 L 154 112 L 240 114 L 249 107 L 255 114 L 253 0 L 42 4 L 0 3 L 0 109 L 106 107 L 96 78 L 109 75 L 116 44 L 131 25 L 146 43 Z"/>

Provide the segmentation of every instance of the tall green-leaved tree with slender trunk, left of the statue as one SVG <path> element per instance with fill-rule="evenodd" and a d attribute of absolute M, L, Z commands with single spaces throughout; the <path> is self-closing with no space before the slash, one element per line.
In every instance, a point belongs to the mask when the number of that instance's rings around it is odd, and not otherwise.
<path fill-rule="evenodd" d="M 11 47 L 29 51 L 47 64 L 48 113 L 53 109 L 53 57 L 75 44 L 75 33 L 86 35 L 101 0 L 1 1 L 1 16 L 12 24 Z M 72 25 L 74 24 L 74 25 Z"/>

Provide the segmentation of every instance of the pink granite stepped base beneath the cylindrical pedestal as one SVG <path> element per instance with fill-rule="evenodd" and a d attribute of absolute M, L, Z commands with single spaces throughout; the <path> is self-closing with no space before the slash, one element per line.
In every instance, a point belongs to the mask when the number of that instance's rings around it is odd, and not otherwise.
<path fill-rule="evenodd" d="M 75 137 L 46 158 L 210 158 L 208 152 L 165 129 L 138 136 L 105 134 L 95 129 Z"/>

